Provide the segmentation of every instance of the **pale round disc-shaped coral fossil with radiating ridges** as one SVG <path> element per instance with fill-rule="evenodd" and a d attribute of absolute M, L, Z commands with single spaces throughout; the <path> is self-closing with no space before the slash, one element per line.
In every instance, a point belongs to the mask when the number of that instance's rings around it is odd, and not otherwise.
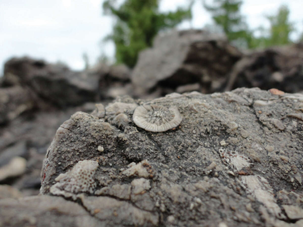
<path fill-rule="evenodd" d="M 176 106 L 143 105 L 135 109 L 133 120 L 146 131 L 164 132 L 178 126 L 182 117 Z"/>

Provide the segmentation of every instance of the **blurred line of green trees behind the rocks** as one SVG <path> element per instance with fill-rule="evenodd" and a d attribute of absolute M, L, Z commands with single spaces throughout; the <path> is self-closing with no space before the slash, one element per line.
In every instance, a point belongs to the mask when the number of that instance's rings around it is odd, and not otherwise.
<path fill-rule="evenodd" d="M 114 42 L 116 63 L 134 67 L 138 53 L 152 45 L 153 38 L 159 31 L 191 19 L 193 1 L 189 1 L 186 8 L 179 7 L 175 12 L 162 13 L 159 12 L 159 0 L 125 0 L 121 5 L 116 5 L 115 0 L 106 0 L 103 11 L 114 16 L 116 22 L 112 34 L 105 41 Z M 228 40 L 240 48 L 266 48 L 291 43 L 289 36 L 295 29 L 289 21 L 286 5 L 280 6 L 276 15 L 265 16 L 270 23 L 269 29 L 260 26 L 251 30 L 241 15 L 242 3 L 241 0 L 212 0 L 209 5 L 202 0 L 204 8 L 211 12 L 215 23 L 212 26 L 224 32 Z M 209 28 L 210 25 L 205 27 Z M 256 31 L 258 36 L 255 35 Z"/>

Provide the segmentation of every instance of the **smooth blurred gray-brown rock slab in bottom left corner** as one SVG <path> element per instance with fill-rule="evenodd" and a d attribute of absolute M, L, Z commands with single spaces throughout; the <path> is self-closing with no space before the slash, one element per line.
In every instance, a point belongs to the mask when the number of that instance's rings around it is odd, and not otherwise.
<path fill-rule="evenodd" d="M 54 196 L 0 200 L 0 226 L 100 226 L 82 206 Z"/>

